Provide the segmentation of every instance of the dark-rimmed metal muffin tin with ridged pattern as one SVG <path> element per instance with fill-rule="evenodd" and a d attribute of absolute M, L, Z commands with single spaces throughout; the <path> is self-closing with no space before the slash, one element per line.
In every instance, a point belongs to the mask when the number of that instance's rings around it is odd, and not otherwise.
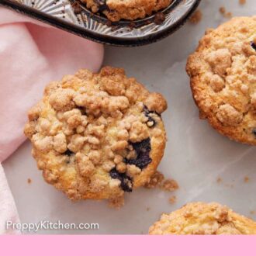
<path fill-rule="evenodd" d="M 174 33 L 192 15 L 200 1 L 174 0 L 162 11 L 166 18 L 160 25 L 154 22 L 154 16 L 133 22 L 109 22 L 105 16 L 92 14 L 81 4 L 81 12 L 77 14 L 72 7 L 74 1 L 67 0 L 1 0 L 0 5 L 89 40 L 132 47 L 154 43 Z"/>

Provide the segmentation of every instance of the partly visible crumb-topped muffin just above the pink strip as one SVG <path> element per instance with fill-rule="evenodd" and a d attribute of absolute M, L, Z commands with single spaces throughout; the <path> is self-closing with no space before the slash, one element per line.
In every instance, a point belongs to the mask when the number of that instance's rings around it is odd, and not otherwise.
<path fill-rule="evenodd" d="M 171 214 L 163 214 L 150 234 L 220 235 L 256 234 L 256 223 L 216 202 L 192 202 Z"/>

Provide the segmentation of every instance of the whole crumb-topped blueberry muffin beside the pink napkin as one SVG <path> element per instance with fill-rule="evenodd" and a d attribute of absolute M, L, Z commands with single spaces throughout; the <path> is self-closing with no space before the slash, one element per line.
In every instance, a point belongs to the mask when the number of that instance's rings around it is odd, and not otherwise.
<path fill-rule="evenodd" d="M 43 178 L 70 199 L 117 199 L 154 175 L 165 109 L 162 95 L 123 69 L 81 70 L 47 86 L 25 134 Z"/>

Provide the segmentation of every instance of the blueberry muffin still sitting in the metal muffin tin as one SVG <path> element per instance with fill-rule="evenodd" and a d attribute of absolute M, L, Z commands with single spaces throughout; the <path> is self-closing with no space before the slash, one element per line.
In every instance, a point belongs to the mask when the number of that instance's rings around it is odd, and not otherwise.
<path fill-rule="evenodd" d="M 112 22 L 142 19 L 168 7 L 172 0 L 81 0 L 92 12 L 101 12 Z"/>

